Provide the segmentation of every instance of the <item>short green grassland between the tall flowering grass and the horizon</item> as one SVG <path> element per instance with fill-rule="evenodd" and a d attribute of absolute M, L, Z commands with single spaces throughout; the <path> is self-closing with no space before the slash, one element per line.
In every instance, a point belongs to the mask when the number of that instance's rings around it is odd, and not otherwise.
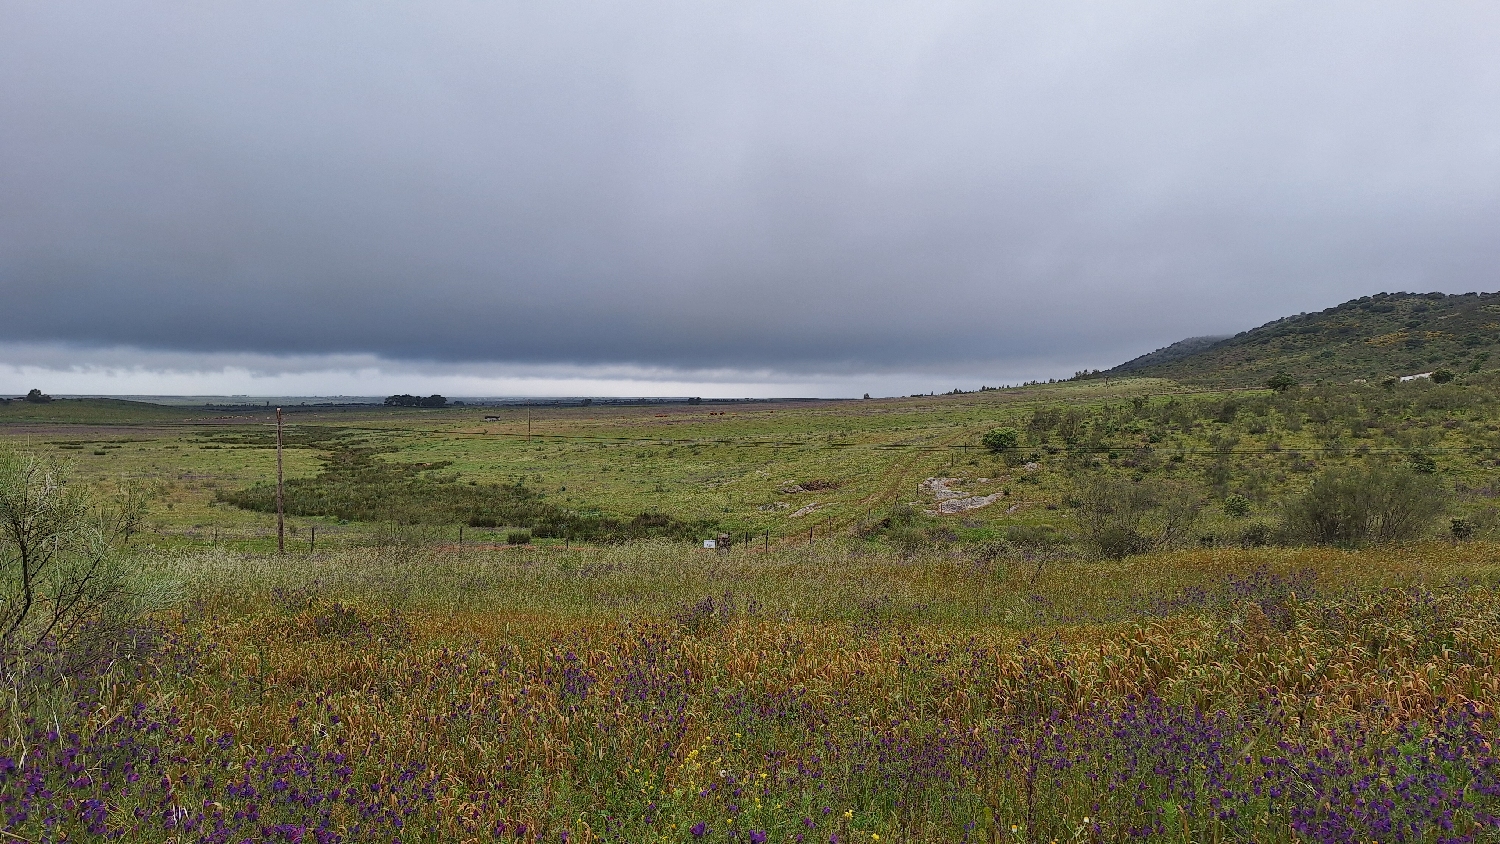
<path fill-rule="evenodd" d="M 1149 477 L 1194 490 L 1204 507 L 1192 538 L 1212 544 L 1276 522 L 1320 469 L 1386 459 L 1438 472 L 1455 493 L 1450 514 L 1484 535 L 1500 523 L 1497 397 L 1491 376 L 1473 375 L 1448 385 L 1288 394 L 1120 379 L 867 402 L 304 411 L 288 417 L 286 474 L 312 480 L 336 450 L 363 448 L 424 478 L 496 490 L 520 483 L 537 501 L 580 517 L 654 513 L 704 525 L 705 537 L 770 534 L 772 544 L 861 526 L 870 534 L 902 504 L 930 510 L 934 501 L 920 483 L 933 477 L 999 498 L 926 520 L 932 537 L 984 541 L 1012 528 L 1050 528 L 1066 538 L 1080 481 Z M 51 414 L 45 420 L 21 417 L 36 414 L 24 405 L 0 408 L 6 442 L 68 457 L 99 481 L 159 483 L 153 523 L 162 541 L 262 546 L 270 535 L 267 513 L 225 504 L 228 493 L 274 477 L 268 414 L 189 418 L 130 408 L 128 421 L 106 424 L 93 408 L 72 421 L 45 409 L 56 405 L 40 406 Z M 980 445 L 984 432 L 1006 426 L 1023 433 L 1016 453 Z M 1246 514 L 1222 510 L 1232 495 L 1250 502 Z M 450 511 L 405 520 L 453 540 L 465 523 Z M 315 526 L 324 541 L 354 544 L 390 531 L 339 522 L 333 513 L 303 514 L 292 529 L 298 541 Z M 471 526 L 465 535 L 498 541 L 507 528 L 525 526 Z M 1444 528 L 1434 523 L 1432 535 Z"/>

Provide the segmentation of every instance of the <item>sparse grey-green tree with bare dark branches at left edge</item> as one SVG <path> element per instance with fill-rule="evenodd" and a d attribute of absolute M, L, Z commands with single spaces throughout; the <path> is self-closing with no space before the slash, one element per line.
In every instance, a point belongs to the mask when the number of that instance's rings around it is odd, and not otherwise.
<path fill-rule="evenodd" d="M 0 676 L 104 619 L 123 595 L 116 547 L 144 510 L 136 489 L 105 504 L 46 457 L 0 453 Z"/>

